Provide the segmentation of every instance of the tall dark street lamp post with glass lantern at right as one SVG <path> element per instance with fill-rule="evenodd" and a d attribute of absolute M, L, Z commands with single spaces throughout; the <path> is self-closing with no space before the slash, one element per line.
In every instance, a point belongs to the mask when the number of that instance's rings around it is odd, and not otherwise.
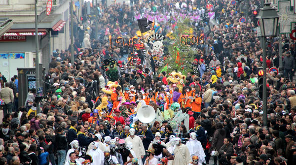
<path fill-rule="evenodd" d="M 270 6 L 270 3 L 264 3 L 264 7 L 260 8 L 257 17 L 260 23 L 261 41 L 263 41 L 263 122 L 267 126 L 267 98 L 266 98 L 266 37 L 276 36 L 276 29 L 279 21 L 277 11 Z"/>

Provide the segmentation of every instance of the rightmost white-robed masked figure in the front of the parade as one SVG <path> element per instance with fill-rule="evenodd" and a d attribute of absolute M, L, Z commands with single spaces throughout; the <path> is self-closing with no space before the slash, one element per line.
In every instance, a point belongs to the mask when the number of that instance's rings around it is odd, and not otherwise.
<path fill-rule="evenodd" d="M 201 143 L 196 139 L 195 132 L 190 133 L 190 139 L 186 142 L 186 146 L 189 149 L 190 156 L 198 156 L 199 163 L 206 163 L 206 154 L 202 148 Z"/>

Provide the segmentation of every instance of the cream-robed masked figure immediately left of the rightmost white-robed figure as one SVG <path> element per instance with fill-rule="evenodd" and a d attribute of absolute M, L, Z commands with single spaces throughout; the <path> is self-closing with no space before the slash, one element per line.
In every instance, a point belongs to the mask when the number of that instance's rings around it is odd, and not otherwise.
<path fill-rule="evenodd" d="M 188 165 L 191 162 L 189 150 L 185 144 L 181 143 L 179 137 L 176 138 L 174 157 L 173 165 Z"/>

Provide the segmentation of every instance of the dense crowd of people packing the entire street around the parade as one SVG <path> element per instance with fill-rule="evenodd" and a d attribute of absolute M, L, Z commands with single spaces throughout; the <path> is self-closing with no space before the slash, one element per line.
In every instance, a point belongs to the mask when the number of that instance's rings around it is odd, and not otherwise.
<path fill-rule="evenodd" d="M 32 89 L 18 106 L 17 76 L 9 81 L 0 73 L 0 165 L 293 165 L 294 40 L 267 39 L 263 125 L 257 87 L 263 59 L 252 14 L 240 22 L 239 5 L 227 0 L 102 2 L 94 5 L 98 20 L 74 23 L 75 61 L 70 49 L 53 52 L 40 102 Z M 250 0 L 250 13 L 258 7 Z M 183 14 L 193 33 L 205 36 L 191 46 L 199 51 L 185 75 L 148 64 L 141 49 L 109 45 L 109 35 L 134 36 L 144 16 L 166 36 Z M 156 114 L 149 123 L 137 117 L 145 105 Z"/>

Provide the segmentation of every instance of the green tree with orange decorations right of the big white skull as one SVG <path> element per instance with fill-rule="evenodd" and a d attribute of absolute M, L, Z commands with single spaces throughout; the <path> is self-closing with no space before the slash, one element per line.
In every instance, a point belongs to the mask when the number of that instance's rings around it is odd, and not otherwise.
<path fill-rule="evenodd" d="M 190 65 L 194 60 L 195 51 L 180 39 L 183 35 L 192 35 L 193 30 L 189 26 L 189 21 L 189 19 L 179 20 L 173 30 L 174 33 L 165 39 L 164 46 L 168 48 L 168 53 L 164 57 L 160 70 L 168 64 L 167 73 L 178 70 L 186 74 L 192 71 Z M 179 52 L 179 58 L 177 52 Z"/>

